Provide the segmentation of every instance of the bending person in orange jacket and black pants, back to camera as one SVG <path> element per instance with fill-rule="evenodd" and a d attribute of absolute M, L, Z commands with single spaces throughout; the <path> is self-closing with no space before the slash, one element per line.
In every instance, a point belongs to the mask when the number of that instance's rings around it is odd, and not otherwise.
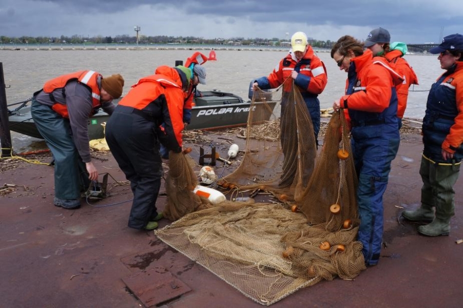
<path fill-rule="evenodd" d="M 182 150 L 182 108 L 191 70 L 160 66 L 132 86 L 106 123 L 106 141 L 133 192 L 128 226 L 158 227 L 156 200 L 162 178 L 158 140 L 175 152 Z"/>

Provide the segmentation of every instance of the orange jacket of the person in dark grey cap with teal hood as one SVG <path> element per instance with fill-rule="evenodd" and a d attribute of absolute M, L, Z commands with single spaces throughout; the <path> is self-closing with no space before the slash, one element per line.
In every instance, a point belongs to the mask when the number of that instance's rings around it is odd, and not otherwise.
<path fill-rule="evenodd" d="M 403 82 L 395 87 L 397 91 L 397 117 L 403 118 L 403 113 L 407 108 L 407 99 L 410 85 L 417 85 L 418 78 L 413 68 L 402 58 L 402 51 L 391 50 L 384 57 L 388 60 L 390 66 L 402 76 Z"/>

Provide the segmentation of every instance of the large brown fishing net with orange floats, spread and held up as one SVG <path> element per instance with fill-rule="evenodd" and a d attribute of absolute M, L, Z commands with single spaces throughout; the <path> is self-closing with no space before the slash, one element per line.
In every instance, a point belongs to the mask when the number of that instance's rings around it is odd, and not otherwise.
<path fill-rule="evenodd" d="M 333 114 L 317 149 L 305 102 L 288 82 L 254 93 L 241 164 L 213 185 L 252 198 L 212 205 L 192 192 L 196 178 L 188 155 L 176 155 L 175 162 L 171 156 L 168 181 L 175 181 L 166 185 L 168 195 L 177 196 L 169 197 L 167 208 L 189 214 L 156 231 L 264 305 L 322 279 L 353 279 L 365 268 L 355 240 L 357 178 L 343 113 Z"/>

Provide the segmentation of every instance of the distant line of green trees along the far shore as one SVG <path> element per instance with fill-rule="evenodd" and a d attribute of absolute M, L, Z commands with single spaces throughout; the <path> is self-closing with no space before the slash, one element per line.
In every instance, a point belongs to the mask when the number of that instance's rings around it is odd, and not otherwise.
<path fill-rule="evenodd" d="M 140 44 L 195 44 L 195 45 L 261 45 L 261 46 L 283 46 L 289 45 L 288 40 L 282 40 L 280 38 L 244 38 L 244 37 L 230 37 L 230 38 L 203 38 L 194 36 L 148 36 L 139 35 L 138 42 Z M 72 35 L 66 36 L 21 36 L 21 37 L 10 37 L 0 35 L 0 44 L 136 44 L 137 37 L 131 35 L 116 35 L 112 36 L 82 36 Z M 335 42 L 328 41 L 317 41 L 310 40 L 313 47 L 320 48 L 331 48 Z"/>

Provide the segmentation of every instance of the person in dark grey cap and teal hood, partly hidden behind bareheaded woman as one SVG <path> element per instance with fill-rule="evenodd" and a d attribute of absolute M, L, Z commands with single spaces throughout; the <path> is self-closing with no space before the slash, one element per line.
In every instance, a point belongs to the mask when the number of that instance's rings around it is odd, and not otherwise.
<path fill-rule="evenodd" d="M 383 28 L 373 29 L 364 42 L 364 46 L 373 52 L 374 56 L 383 57 L 388 64 L 399 73 L 404 81 L 395 87 L 397 91 L 397 117 L 399 118 L 399 129 L 402 126 L 401 119 L 407 108 L 409 87 L 418 84 L 418 78 L 413 68 L 403 59 L 407 53 L 407 44 L 391 42 L 389 31 Z"/>

